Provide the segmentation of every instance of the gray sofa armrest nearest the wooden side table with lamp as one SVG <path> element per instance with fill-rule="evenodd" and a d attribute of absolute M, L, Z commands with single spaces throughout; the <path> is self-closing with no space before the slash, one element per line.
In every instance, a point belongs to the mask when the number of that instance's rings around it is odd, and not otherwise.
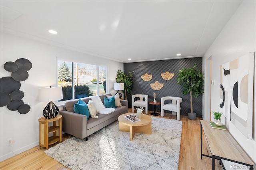
<path fill-rule="evenodd" d="M 62 115 L 62 131 L 78 138 L 85 138 L 86 127 L 87 127 L 87 117 L 86 115 L 81 115 L 78 113 L 73 113 L 69 111 L 60 111 Z"/>

